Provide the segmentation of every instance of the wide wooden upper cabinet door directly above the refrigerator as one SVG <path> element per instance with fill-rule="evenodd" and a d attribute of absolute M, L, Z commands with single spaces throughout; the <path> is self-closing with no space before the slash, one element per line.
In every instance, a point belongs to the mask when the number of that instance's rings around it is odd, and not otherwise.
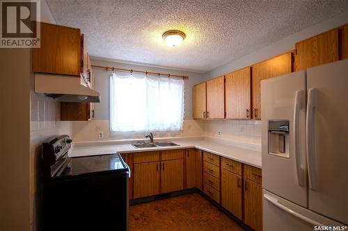
<path fill-rule="evenodd" d="M 338 60 L 338 29 L 295 44 L 295 71 Z"/>

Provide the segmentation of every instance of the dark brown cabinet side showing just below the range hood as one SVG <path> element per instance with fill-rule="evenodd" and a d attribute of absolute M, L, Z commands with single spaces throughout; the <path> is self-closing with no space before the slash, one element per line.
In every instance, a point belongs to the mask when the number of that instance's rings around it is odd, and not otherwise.
<path fill-rule="evenodd" d="M 91 103 L 61 102 L 61 121 L 88 121 L 91 119 Z"/>

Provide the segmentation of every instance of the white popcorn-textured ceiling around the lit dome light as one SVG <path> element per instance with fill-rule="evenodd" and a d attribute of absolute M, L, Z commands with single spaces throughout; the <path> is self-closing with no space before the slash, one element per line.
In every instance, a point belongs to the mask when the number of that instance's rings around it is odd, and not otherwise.
<path fill-rule="evenodd" d="M 209 71 L 348 10 L 347 0 L 47 0 L 58 24 L 81 28 L 90 55 Z M 184 31 L 166 46 L 167 30 Z"/>

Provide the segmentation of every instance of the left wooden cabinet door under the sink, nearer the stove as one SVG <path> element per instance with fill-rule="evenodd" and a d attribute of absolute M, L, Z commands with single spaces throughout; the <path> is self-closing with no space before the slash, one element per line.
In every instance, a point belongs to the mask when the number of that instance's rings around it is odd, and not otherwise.
<path fill-rule="evenodd" d="M 133 198 L 159 194 L 159 162 L 134 164 Z"/>

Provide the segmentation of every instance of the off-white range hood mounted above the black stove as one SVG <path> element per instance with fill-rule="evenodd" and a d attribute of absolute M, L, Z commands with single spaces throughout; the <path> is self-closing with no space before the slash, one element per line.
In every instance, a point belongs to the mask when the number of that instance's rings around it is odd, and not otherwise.
<path fill-rule="evenodd" d="M 99 92 L 81 85 L 81 78 L 77 76 L 35 73 L 35 92 L 61 102 L 100 103 Z"/>

